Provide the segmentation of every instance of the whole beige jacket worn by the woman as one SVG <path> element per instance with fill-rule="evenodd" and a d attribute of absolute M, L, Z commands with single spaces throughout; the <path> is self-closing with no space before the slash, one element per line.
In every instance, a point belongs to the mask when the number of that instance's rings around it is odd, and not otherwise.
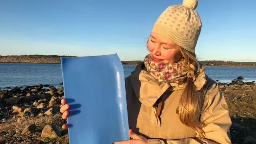
<path fill-rule="evenodd" d="M 205 89 L 204 140 L 196 132 L 180 122 L 176 113 L 179 95 L 184 85 L 158 82 L 143 65 L 125 79 L 129 127 L 148 138 L 148 144 L 231 144 L 229 128 L 231 118 L 224 96 L 218 84 L 205 75 L 204 68 L 194 82 L 197 89 Z M 166 90 L 168 89 L 168 92 Z M 169 92 L 170 91 L 170 92 Z M 156 101 L 162 96 L 160 116 L 156 116 Z"/>

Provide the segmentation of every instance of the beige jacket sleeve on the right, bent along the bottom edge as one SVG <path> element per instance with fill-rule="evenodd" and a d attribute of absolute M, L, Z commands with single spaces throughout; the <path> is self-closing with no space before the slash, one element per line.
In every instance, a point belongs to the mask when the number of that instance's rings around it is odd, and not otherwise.
<path fill-rule="evenodd" d="M 218 84 L 212 84 L 206 93 L 203 118 L 205 138 L 184 138 L 180 140 L 149 139 L 148 144 L 231 144 L 229 128 L 232 124 L 226 100 Z"/>

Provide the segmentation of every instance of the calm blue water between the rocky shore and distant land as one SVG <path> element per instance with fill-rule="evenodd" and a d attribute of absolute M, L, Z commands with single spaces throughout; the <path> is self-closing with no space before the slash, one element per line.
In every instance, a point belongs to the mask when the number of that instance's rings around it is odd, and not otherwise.
<path fill-rule="evenodd" d="M 123 65 L 124 76 L 127 77 L 136 67 Z M 256 68 L 240 67 L 205 67 L 206 74 L 213 80 L 231 82 L 238 76 L 247 81 L 256 81 Z M 49 84 L 59 87 L 62 83 L 60 64 L 20 64 L 0 63 L 0 89 L 6 87 L 24 87 L 36 84 Z"/>

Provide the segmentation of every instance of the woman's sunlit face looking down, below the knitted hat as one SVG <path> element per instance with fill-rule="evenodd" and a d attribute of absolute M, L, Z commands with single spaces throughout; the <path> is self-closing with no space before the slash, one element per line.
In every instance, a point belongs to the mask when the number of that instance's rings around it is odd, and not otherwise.
<path fill-rule="evenodd" d="M 156 63 L 176 63 L 182 56 L 178 44 L 156 33 L 149 37 L 148 51 Z"/>

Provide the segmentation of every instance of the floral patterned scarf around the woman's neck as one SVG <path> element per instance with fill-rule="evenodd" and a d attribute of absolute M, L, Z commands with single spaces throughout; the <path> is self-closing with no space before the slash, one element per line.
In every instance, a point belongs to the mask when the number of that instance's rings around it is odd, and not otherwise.
<path fill-rule="evenodd" d="M 155 63 L 150 54 L 144 59 L 145 68 L 148 72 L 163 83 L 181 84 L 187 78 L 188 69 L 182 67 L 184 59 L 174 64 Z"/>

